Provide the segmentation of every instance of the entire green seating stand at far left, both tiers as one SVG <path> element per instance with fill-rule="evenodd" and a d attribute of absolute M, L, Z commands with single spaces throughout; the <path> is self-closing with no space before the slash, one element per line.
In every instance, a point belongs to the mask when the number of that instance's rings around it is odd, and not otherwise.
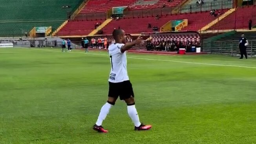
<path fill-rule="evenodd" d="M 57 29 L 84 0 L 2 0 L 0 36 L 23 36 L 36 26 Z M 69 8 L 66 6 L 70 6 Z M 64 6 L 64 7 L 63 7 Z"/>

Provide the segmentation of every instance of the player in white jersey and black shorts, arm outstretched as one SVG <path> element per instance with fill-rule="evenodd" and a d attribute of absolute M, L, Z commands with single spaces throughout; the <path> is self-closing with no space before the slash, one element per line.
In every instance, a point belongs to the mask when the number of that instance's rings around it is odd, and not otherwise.
<path fill-rule="evenodd" d="M 139 116 L 135 108 L 134 94 L 132 84 L 129 80 L 126 69 L 126 52 L 128 49 L 135 45 L 143 45 L 145 40 L 139 37 L 137 40 L 126 43 L 126 36 L 123 30 L 115 29 L 112 33 L 115 43 L 108 47 L 111 71 L 108 91 L 108 101 L 101 108 L 98 120 L 93 126 L 93 129 L 98 132 L 106 133 L 106 129 L 102 127 L 103 120 L 107 117 L 110 108 L 115 105 L 115 101 L 118 97 L 120 100 L 124 100 L 127 104 L 128 115 L 132 119 L 135 130 L 148 130 L 152 126 L 144 125 L 139 121 Z"/>

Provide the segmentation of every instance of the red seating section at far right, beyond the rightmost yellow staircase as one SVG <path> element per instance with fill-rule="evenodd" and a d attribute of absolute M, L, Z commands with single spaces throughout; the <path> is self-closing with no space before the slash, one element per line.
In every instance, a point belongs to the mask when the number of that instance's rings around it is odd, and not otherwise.
<path fill-rule="evenodd" d="M 252 20 L 252 26 L 256 24 L 256 7 L 240 7 L 229 16 L 220 20 L 208 30 L 214 29 L 248 29 L 248 22 Z"/>

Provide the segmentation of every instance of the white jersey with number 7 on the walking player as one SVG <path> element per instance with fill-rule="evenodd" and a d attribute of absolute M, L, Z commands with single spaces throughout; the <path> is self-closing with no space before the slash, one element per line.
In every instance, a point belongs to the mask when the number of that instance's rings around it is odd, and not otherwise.
<path fill-rule="evenodd" d="M 124 44 L 111 44 L 108 47 L 110 56 L 111 71 L 109 82 L 117 83 L 129 80 L 127 73 L 127 59 L 126 52 L 121 53 L 121 47 Z"/>

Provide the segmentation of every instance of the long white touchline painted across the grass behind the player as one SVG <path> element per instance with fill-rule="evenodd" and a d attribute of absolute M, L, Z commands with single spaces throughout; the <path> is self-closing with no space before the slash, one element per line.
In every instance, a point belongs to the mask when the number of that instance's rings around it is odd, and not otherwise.
<path fill-rule="evenodd" d="M 42 51 L 56 51 L 56 50 L 50 50 L 50 49 L 36 49 L 36 50 L 42 50 Z M 57 51 L 60 52 L 60 51 Z M 78 52 L 71 52 L 71 53 L 78 53 Z M 102 54 L 95 54 L 95 53 L 83 53 L 87 55 L 99 55 L 99 56 L 108 56 L 108 55 L 102 55 Z M 209 63 L 201 63 L 201 62 L 184 62 L 184 61 L 178 61 L 178 60 L 163 60 L 163 59 L 153 59 L 153 58 L 138 58 L 138 57 L 127 57 L 127 58 L 133 58 L 133 59 L 139 59 L 139 60 L 153 60 L 153 61 L 165 61 L 165 62 L 179 62 L 179 63 L 185 63 L 185 64 L 199 64 L 199 65 L 208 65 L 208 66 L 224 66 L 224 67 L 243 67 L 243 68 L 251 68 L 256 69 L 256 67 L 251 66 L 237 66 L 237 65 L 226 65 L 226 64 L 209 64 Z"/>

